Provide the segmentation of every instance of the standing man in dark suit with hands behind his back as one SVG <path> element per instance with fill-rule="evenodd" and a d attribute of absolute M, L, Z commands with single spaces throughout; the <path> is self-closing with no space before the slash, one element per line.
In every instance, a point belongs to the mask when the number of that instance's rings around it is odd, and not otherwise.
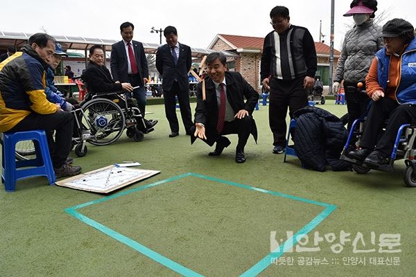
<path fill-rule="evenodd" d="M 166 43 L 157 48 L 156 68 L 162 75 L 162 88 L 166 118 L 171 127 L 170 138 L 179 135 L 179 123 L 176 116 L 176 101 L 179 101 L 180 114 L 185 132 L 191 135 L 191 106 L 189 105 L 188 71 L 191 69 L 191 48 L 177 42 L 177 30 L 167 26 L 163 32 Z"/>

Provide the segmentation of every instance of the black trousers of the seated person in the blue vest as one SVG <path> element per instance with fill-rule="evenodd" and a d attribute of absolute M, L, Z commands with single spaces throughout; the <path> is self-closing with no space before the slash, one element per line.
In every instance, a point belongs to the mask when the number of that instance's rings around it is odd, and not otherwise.
<path fill-rule="evenodd" d="M 379 138 L 384 121 L 389 118 L 385 132 Z M 402 124 L 416 123 L 416 106 L 399 105 L 396 100 L 385 97 L 374 102 L 367 116 L 367 123 L 363 131 L 361 147 L 380 152 L 383 157 L 390 157 L 394 148 L 397 131 Z"/>

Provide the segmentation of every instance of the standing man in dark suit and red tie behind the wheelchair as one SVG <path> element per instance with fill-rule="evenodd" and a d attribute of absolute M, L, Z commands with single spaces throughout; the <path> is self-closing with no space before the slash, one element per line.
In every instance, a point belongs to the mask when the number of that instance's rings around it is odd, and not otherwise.
<path fill-rule="evenodd" d="M 148 64 L 143 44 L 132 40 L 134 29 L 135 26 L 130 22 L 121 24 L 120 33 L 123 40 L 112 45 L 110 68 L 115 82 L 128 82 L 132 87 L 139 86 L 133 90 L 133 98 L 137 100 L 137 106 L 144 118 L 146 109 L 144 85 L 148 82 Z M 131 97 L 130 93 L 126 93 L 126 96 Z M 157 120 L 145 121 L 147 127 L 153 127 L 157 123 Z"/>

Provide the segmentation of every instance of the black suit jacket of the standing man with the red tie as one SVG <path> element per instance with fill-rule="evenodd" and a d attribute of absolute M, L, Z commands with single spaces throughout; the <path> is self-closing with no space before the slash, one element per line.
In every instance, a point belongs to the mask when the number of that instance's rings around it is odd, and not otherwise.
<path fill-rule="evenodd" d="M 133 50 L 135 51 L 137 70 L 140 75 L 140 84 L 143 85 L 143 78 L 147 78 L 149 75 L 144 47 L 141 42 L 137 42 L 135 40 L 132 40 L 131 44 Z M 123 40 L 113 44 L 111 48 L 110 68 L 112 77 L 115 81 L 128 82 L 127 61 L 127 54 L 125 53 Z"/>

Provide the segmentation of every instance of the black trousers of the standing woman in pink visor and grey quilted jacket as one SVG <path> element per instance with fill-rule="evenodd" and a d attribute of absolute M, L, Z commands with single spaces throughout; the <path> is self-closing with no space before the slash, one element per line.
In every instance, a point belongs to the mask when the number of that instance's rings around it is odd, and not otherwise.
<path fill-rule="evenodd" d="M 363 82 L 365 84 L 365 82 Z M 344 82 L 345 88 L 345 100 L 347 100 L 347 111 L 348 111 L 348 131 L 351 130 L 352 123 L 354 120 L 365 114 L 367 111 L 368 103 L 370 98 L 367 93 L 363 92 L 365 87 L 358 89 L 356 83 Z"/>

